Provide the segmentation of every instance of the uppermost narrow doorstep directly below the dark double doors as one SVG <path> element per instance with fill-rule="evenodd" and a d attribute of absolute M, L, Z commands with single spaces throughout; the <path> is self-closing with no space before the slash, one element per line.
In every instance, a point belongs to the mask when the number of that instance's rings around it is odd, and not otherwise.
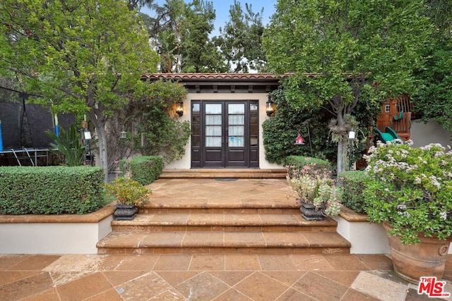
<path fill-rule="evenodd" d="M 164 169 L 160 178 L 217 178 L 228 180 L 232 178 L 285 178 L 287 169 L 253 169 L 253 168 L 197 168 L 197 169 Z"/>

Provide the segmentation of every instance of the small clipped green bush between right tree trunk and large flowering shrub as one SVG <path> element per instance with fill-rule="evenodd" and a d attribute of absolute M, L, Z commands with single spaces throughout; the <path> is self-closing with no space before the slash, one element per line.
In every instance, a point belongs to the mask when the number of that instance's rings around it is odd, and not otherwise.
<path fill-rule="evenodd" d="M 365 214 L 363 190 L 367 180 L 365 171 L 344 171 L 338 174 L 341 203 L 357 213 Z"/>

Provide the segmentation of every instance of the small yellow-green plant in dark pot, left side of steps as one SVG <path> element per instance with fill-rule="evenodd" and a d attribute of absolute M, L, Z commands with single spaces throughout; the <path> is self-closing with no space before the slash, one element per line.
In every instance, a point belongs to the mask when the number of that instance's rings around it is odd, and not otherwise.
<path fill-rule="evenodd" d="M 148 202 L 152 193 L 136 180 L 131 178 L 116 178 L 111 184 L 105 184 L 107 195 L 113 195 L 117 201 L 114 219 L 132 220 L 138 211 L 137 205 Z"/>

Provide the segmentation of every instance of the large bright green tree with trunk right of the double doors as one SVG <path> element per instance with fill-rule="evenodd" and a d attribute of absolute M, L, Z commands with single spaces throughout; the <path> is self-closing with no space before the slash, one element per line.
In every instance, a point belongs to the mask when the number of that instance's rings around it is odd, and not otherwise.
<path fill-rule="evenodd" d="M 415 91 L 413 68 L 429 43 L 421 0 L 278 1 L 264 32 L 268 68 L 293 72 L 283 87 L 295 109 L 331 106 L 337 171 L 346 166 L 347 131 L 358 102 Z"/>

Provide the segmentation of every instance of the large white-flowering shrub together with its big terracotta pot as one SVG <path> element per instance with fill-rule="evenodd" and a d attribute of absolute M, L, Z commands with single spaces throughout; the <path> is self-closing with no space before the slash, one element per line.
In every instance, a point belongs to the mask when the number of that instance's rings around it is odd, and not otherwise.
<path fill-rule="evenodd" d="M 398 140 L 371 147 L 366 160 L 365 210 L 388 232 L 394 270 L 413 283 L 440 279 L 452 237 L 452 152 Z"/>

